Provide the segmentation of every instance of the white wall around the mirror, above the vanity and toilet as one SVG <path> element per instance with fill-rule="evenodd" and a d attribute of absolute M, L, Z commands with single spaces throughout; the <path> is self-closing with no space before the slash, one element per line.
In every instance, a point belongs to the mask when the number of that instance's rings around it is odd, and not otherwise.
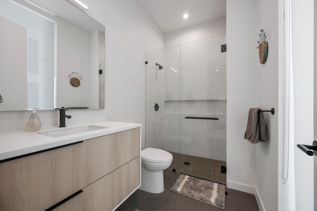
<path fill-rule="evenodd" d="M 145 52 L 164 46 L 163 34 L 135 1 L 85 0 L 87 14 L 106 26 L 106 109 L 69 110 L 67 126 L 109 120 L 145 122 Z M 1 111 L 0 132 L 25 129 L 31 112 Z M 57 127 L 58 111 L 38 111 L 45 127 Z M 143 134 L 144 140 L 144 134 Z"/>

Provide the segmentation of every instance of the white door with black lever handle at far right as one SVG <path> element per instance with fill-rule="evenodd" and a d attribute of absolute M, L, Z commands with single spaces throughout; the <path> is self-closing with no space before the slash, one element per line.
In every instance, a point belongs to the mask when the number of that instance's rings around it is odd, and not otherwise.
<path fill-rule="evenodd" d="M 316 0 L 291 1 L 291 64 L 294 76 L 294 141 L 296 145 L 313 145 L 314 139 L 317 140 L 316 4 Z M 311 44 L 305 48 L 303 44 L 307 41 Z M 304 149 L 304 151 L 311 155 L 313 153 L 312 149 Z M 294 154 L 296 211 L 317 211 L 317 153 L 308 156 L 296 147 Z"/>

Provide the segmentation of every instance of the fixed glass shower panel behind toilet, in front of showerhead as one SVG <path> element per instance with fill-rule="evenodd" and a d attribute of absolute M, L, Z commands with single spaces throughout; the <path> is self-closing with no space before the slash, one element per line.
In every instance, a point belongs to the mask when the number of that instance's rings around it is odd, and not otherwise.
<path fill-rule="evenodd" d="M 180 45 L 146 52 L 145 147 L 170 152 L 180 172 Z"/>

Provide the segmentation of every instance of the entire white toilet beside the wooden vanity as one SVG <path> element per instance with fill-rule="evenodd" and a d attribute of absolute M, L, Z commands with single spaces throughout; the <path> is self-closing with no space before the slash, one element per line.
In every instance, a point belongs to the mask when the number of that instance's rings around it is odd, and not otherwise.
<path fill-rule="evenodd" d="M 141 151 L 141 187 L 150 193 L 164 191 L 163 170 L 167 169 L 173 160 L 172 154 L 161 149 L 146 148 Z"/>

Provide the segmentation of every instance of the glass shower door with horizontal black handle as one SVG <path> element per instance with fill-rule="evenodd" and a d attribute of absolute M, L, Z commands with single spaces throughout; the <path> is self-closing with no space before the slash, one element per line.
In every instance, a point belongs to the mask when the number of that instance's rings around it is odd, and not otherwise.
<path fill-rule="evenodd" d="M 225 34 L 181 44 L 180 171 L 226 184 Z"/>

